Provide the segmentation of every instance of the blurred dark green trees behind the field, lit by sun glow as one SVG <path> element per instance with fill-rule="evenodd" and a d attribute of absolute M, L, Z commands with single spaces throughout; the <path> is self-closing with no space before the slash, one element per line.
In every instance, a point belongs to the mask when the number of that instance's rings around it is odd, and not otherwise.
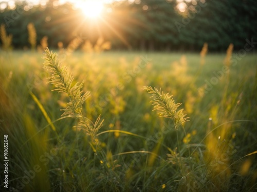
<path fill-rule="evenodd" d="M 246 39 L 257 41 L 257 1 L 255 0 L 135 0 L 105 5 L 98 19 L 88 19 L 69 3 L 56 6 L 51 0 L 42 6 L 0 12 L 0 24 L 13 35 L 13 47 L 29 47 L 27 25 L 33 23 L 37 42 L 48 37 L 57 48 L 79 37 L 96 42 L 100 36 L 113 49 L 199 51 L 205 42 L 210 51 L 224 51 L 230 43 L 244 49 Z M 183 6 L 183 7 L 182 7 Z M 180 10 L 181 8 L 181 10 Z M 186 9 L 185 9 L 186 8 Z M 25 11 L 26 10 L 26 11 Z"/>

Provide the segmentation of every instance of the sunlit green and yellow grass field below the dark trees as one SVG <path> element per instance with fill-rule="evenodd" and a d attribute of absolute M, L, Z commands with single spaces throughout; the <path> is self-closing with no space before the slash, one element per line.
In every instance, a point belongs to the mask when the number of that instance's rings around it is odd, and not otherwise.
<path fill-rule="evenodd" d="M 80 114 L 91 128 L 80 129 L 82 117 L 62 116 L 70 98 L 51 91 L 43 53 L 2 51 L 7 191 L 257 190 L 256 55 L 230 61 L 226 54 L 192 53 L 58 56 L 70 66 L 71 85 L 84 81 L 83 92 L 90 92 Z M 177 127 L 176 118 L 158 117 L 144 86 L 173 95 L 189 121 Z M 104 121 L 94 135 L 99 115 Z"/>

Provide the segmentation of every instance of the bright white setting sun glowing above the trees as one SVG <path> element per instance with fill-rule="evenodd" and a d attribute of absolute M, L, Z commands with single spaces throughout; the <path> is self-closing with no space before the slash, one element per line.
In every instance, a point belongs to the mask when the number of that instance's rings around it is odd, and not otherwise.
<path fill-rule="evenodd" d="M 96 18 L 100 16 L 103 10 L 103 3 L 99 1 L 87 1 L 79 5 L 84 15 L 89 18 Z"/>

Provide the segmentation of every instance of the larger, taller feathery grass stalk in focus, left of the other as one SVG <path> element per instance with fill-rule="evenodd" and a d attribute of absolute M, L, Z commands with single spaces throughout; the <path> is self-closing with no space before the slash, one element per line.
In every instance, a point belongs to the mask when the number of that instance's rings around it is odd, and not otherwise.
<path fill-rule="evenodd" d="M 100 160 L 103 162 L 104 167 L 109 176 L 113 177 L 115 174 L 112 170 L 107 166 L 105 163 L 105 153 L 102 150 L 100 142 L 97 137 L 97 132 L 100 130 L 103 120 L 101 120 L 100 116 L 97 120 L 93 123 L 89 121 L 85 115 L 83 114 L 82 105 L 85 103 L 86 99 L 90 96 L 90 92 L 83 93 L 81 91 L 83 87 L 83 83 L 76 83 L 72 86 L 72 82 L 74 81 L 74 77 L 68 73 L 68 67 L 63 67 L 61 62 L 58 58 L 57 53 L 50 52 L 47 48 L 45 50 L 45 55 L 43 57 L 45 59 L 44 62 L 44 69 L 51 73 L 49 77 L 49 82 L 54 85 L 55 89 L 53 91 L 64 92 L 69 97 L 69 102 L 67 103 L 67 107 L 63 109 L 64 113 L 62 116 L 75 116 L 76 117 L 76 138 L 77 138 L 77 147 L 78 147 L 78 156 L 80 162 L 80 155 L 79 155 L 79 145 L 78 145 L 78 131 L 83 130 L 86 132 L 87 135 L 91 138 L 91 143 L 97 146 L 96 150 L 100 154 Z M 81 166 L 81 164 L 80 164 Z M 78 170 L 80 173 L 81 168 Z M 81 173 L 79 174 L 81 175 Z M 80 178 L 79 178 L 80 179 Z M 81 180 L 81 179 L 80 179 Z M 80 181 L 82 184 L 82 180 Z M 111 181 L 111 186 L 113 191 L 117 191 L 117 187 L 114 181 Z"/>

